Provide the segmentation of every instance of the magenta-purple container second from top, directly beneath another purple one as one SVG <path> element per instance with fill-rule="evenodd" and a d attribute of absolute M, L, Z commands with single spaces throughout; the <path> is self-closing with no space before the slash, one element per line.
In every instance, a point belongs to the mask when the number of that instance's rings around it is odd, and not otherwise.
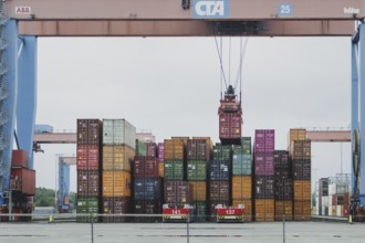
<path fill-rule="evenodd" d="M 254 175 L 273 176 L 274 175 L 274 154 L 255 152 L 254 154 Z"/>

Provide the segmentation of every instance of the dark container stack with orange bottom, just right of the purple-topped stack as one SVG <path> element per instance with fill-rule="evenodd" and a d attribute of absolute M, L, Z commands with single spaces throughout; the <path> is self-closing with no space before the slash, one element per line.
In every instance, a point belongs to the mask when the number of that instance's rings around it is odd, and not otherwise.
<path fill-rule="evenodd" d="M 293 180 L 289 166 L 289 152 L 274 151 L 274 193 L 275 193 L 275 221 L 293 220 Z"/>

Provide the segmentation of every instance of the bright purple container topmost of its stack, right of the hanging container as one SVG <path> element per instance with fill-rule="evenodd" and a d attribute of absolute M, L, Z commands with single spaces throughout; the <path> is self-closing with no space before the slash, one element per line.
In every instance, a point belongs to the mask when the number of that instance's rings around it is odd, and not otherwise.
<path fill-rule="evenodd" d="M 274 130 L 255 130 L 254 133 L 254 151 L 274 151 L 275 149 L 275 131 Z"/>

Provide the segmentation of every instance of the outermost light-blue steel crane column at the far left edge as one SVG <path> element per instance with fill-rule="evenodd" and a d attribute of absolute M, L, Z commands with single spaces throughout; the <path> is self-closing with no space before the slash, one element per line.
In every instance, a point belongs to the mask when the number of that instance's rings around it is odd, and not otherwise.
<path fill-rule="evenodd" d="M 18 23 L 1 15 L 0 192 L 10 189 L 11 152 L 18 97 Z M 0 194 L 1 201 L 2 194 Z"/>

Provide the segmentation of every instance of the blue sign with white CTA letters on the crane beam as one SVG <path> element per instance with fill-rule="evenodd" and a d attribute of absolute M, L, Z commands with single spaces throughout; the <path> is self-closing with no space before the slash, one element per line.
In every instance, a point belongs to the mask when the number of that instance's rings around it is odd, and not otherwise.
<path fill-rule="evenodd" d="M 192 18 L 228 18 L 229 0 L 194 0 Z"/>

